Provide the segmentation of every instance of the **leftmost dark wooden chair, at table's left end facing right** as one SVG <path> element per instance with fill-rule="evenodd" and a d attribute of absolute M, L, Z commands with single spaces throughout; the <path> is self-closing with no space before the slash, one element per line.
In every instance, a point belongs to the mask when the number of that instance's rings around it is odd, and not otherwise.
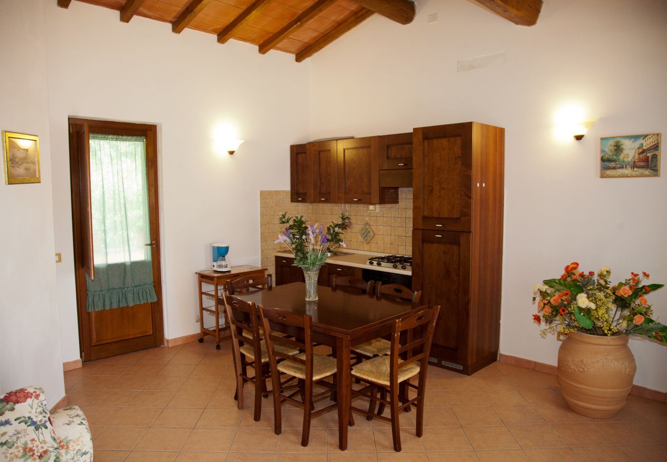
<path fill-rule="evenodd" d="M 261 419 L 261 397 L 268 393 L 266 379 L 271 377 L 269 355 L 265 342 L 259 334 L 259 313 L 253 302 L 224 294 L 225 312 L 231 330 L 231 350 L 236 375 L 236 398 L 238 409 L 243 409 L 243 384 L 249 382 L 255 387 L 255 421 Z M 297 355 L 298 350 L 280 348 L 287 355 Z M 247 367 L 255 371 L 249 377 Z"/>

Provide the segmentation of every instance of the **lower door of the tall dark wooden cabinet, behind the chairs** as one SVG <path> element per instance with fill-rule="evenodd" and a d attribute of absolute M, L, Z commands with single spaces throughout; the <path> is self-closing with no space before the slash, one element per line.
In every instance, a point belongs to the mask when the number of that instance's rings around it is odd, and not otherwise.
<path fill-rule="evenodd" d="M 412 288 L 422 290 L 423 303 L 440 305 L 431 357 L 464 373 L 469 363 L 470 236 L 414 230 L 412 237 Z"/>

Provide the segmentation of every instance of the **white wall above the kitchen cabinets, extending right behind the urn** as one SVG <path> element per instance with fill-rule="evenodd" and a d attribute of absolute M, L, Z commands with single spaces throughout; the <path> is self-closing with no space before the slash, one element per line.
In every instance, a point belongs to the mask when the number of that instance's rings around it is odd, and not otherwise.
<path fill-rule="evenodd" d="M 376 15 L 310 59 L 311 138 L 470 120 L 506 128 L 500 351 L 555 365 L 558 342 L 532 322 L 534 284 L 574 260 L 667 282 L 665 174 L 602 180 L 598 170 L 600 136 L 667 136 L 666 23 L 662 0 L 546 1 L 535 27 L 460 0 L 421 2 L 406 26 Z M 457 72 L 458 59 L 500 51 L 504 63 Z M 570 101 L 598 119 L 582 142 L 552 133 Z M 650 302 L 667 322 L 667 290 Z M 667 346 L 630 346 L 635 383 L 667 391 Z"/>

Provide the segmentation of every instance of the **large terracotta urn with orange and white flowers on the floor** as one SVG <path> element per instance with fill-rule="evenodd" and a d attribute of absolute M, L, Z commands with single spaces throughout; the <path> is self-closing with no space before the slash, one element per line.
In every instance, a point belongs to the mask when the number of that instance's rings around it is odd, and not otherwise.
<path fill-rule="evenodd" d="M 610 284 L 611 270 L 578 271 L 572 262 L 558 279 L 547 279 L 534 290 L 535 322 L 542 334 L 568 334 L 558 350 L 558 382 L 573 411 L 605 419 L 625 406 L 632 390 L 636 363 L 629 336 L 667 343 L 667 326 L 652 319 L 646 296 L 664 284 L 645 284 L 647 272 Z"/>

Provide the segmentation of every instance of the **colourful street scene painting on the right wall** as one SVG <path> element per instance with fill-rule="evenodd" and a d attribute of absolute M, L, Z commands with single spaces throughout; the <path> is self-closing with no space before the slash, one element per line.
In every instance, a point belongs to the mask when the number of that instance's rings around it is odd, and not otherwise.
<path fill-rule="evenodd" d="M 660 134 L 600 138 L 600 178 L 660 176 Z"/>

